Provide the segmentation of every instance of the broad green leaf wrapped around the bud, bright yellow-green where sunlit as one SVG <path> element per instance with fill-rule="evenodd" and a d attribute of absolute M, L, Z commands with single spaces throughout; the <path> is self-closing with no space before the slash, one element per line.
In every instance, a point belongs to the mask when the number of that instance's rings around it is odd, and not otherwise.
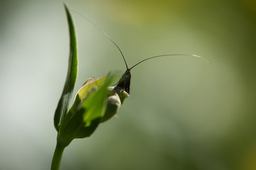
<path fill-rule="evenodd" d="M 58 131 L 58 142 L 68 146 L 75 138 L 89 137 L 100 124 L 104 116 L 109 94 L 108 86 L 116 75 L 102 77 L 95 81 L 87 80 L 87 84 L 78 91 L 73 106 Z"/>

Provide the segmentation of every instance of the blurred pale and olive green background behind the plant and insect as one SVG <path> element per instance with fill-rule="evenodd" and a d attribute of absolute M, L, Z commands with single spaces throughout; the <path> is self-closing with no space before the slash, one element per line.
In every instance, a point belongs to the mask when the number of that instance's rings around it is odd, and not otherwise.
<path fill-rule="evenodd" d="M 68 67 L 63 1 L 0 1 L 0 169 L 50 169 L 53 114 Z M 61 169 L 256 169 L 256 2 L 78 1 L 117 42 L 132 70 L 118 118 L 65 149 Z M 77 91 L 125 65 L 76 13 Z"/>

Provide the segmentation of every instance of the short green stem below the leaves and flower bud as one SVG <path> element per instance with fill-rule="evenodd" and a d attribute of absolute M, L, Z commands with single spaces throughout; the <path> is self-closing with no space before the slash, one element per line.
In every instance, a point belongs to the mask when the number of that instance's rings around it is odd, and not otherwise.
<path fill-rule="evenodd" d="M 61 145 L 60 142 L 57 141 L 57 145 L 55 147 L 55 152 L 53 154 L 51 170 L 60 169 L 60 161 L 61 161 L 64 149 L 65 149 L 65 147 L 63 147 L 63 145 Z"/>

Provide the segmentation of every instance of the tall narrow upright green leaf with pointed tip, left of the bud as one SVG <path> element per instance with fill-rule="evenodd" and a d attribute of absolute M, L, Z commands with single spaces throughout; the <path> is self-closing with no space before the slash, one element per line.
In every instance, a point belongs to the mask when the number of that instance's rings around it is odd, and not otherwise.
<path fill-rule="evenodd" d="M 56 108 L 54 115 L 54 126 L 57 131 L 60 128 L 60 123 L 63 120 L 63 117 L 68 113 L 68 105 L 70 103 L 70 98 L 73 93 L 75 81 L 78 77 L 78 56 L 75 38 L 75 28 L 68 7 L 65 4 L 64 6 L 68 17 L 68 26 L 70 34 L 70 55 L 68 61 L 68 75 L 65 80 L 63 93 L 60 96 L 60 101 L 58 102 L 58 106 Z"/>

